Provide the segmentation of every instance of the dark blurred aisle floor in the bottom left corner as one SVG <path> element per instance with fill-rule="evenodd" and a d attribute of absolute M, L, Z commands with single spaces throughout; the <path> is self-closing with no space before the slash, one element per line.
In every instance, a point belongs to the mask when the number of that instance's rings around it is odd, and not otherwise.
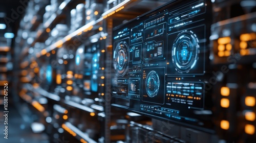
<path fill-rule="evenodd" d="M 0 123 L 4 123 L 4 107 L 1 106 Z M 8 139 L 4 139 L 3 130 L 1 131 L 1 143 L 49 143 L 48 135 L 45 133 L 33 133 L 29 123 L 25 123 L 22 116 L 18 113 L 15 107 L 9 107 L 8 113 Z M 0 128 L 4 129 L 4 124 L 0 124 Z"/>

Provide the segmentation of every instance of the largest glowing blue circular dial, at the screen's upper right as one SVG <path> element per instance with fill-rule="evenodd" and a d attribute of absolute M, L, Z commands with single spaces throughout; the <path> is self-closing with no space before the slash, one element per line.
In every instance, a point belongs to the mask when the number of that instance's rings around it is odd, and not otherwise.
<path fill-rule="evenodd" d="M 188 73 L 197 60 L 199 44 L 197 36 L 191 31 L 183 31 L 174 41 L 172 57 L 179 73 Z"/>

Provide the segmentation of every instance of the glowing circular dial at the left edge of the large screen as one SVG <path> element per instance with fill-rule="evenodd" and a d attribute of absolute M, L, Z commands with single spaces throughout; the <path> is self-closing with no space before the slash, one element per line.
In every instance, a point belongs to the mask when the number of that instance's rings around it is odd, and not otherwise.
<path fill-rule="evenodd" d="M 128 69 L 129 55 L 126 42 L 119 42 L 114 51 L 114 68 L 117 76 L 123 77 Z"/>

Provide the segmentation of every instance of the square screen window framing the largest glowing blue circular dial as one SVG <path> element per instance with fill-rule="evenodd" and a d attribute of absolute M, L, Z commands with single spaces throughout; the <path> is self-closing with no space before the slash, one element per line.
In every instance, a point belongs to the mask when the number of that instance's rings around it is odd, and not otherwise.
<path fill-rule="evenodd" d="M 202 50 L 205 43 L 199 43 L 205 38 L 204 33 L 205 26 L 202 25 L 168 35 L 168 47 L 172 51 L 167 56 L 169 74 L 204 74 L 205 55 Z"/>

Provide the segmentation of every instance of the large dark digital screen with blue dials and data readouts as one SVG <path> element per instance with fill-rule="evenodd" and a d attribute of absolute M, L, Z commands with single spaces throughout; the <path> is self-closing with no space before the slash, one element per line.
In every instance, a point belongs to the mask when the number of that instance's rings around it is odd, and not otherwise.
<path fill-rule="evenodd" d="M 208 1 L 176 1 L 113 30 L 113 106 L 211 132 Z"/>

